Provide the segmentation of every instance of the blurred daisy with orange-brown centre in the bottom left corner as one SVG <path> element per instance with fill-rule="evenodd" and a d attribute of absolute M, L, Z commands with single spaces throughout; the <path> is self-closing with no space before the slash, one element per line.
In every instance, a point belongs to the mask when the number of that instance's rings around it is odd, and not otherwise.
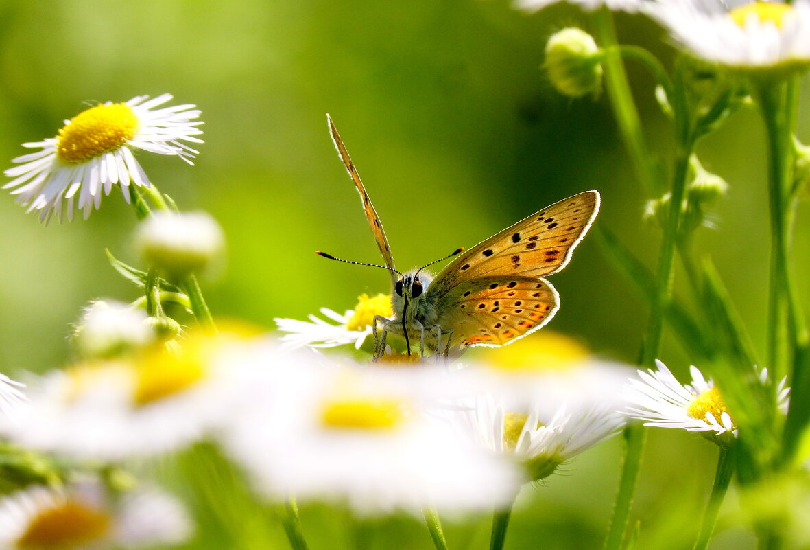
<path fill-rule="evenodd" d="M 0 500 L 0 548 L 82 550 L 181 544 L 191 532 L 182 505 L 157 489 L 113 498 L 101 483 L 33 486 Z"/>

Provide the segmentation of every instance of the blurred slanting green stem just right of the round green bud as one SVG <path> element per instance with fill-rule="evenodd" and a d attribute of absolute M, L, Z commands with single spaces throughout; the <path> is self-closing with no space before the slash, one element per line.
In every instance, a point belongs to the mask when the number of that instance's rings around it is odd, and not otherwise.
<path fill-rule="evenodd" d="M 613 15 L 610 10 L 603 7 L 593 12 L 592 22 L 596 40 L 604 50 L 605 87 L 630 159 L 646 196 L 659 196 L 663 193 L 663 189 L 650 162 L 650 153 L 647 151 L 642 133 L 642 123 L 633 101 L 620 50 L 616 48 Z"/>

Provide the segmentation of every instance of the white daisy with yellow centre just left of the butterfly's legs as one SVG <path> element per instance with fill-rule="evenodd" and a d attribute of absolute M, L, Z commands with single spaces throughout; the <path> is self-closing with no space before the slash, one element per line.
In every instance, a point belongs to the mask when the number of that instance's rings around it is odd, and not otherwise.
<path fill-rule="evenodd" d="M 359 350 L 365 339 L 372 334 L 374 316 L 390 318 L 394 315 L 391 308 L 391 297 L 388 294 L 377 294 L 369 298 L 368 294 L 357 297 L 354 309 L 343 315 L 327 307 L 321 308 L 321 314 L 335 321 L 331 324 L 317 316 L 310 315 L 309 322 L 295 319 L 275 319 L 279 330 L 287 333 L 281 337 L 285 347 L 335 347 L 354 344 Z"/>

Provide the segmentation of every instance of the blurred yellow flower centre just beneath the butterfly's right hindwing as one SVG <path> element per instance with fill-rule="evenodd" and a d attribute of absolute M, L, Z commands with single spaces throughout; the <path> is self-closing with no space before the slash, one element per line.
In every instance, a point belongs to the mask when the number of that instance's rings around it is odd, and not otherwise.
<path fill-rule="evenodd" d="M 506 372 L 565 371 L 588 358 L 588 350 L 579 342 L 548 331 L 482 353 L 489 364 Z"/>

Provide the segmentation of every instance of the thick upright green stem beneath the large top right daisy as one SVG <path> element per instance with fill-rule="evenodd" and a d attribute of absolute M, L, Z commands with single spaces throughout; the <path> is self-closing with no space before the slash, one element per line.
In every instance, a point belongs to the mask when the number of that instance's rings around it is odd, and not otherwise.
<path fill-rule="evenodd" d="M 756 83 L 765 127 L 768 131 L 768 191 L 770 203 L 770 288 L 768 303 L 768 361 L 774 380 L 787 374 L 791 361 L 787 346 L 799 340 L 799 321 L 791 299 L 792 282 L 788 268 L 792 187 L 793 107 L 787 104 L 787 83 Z"/>

